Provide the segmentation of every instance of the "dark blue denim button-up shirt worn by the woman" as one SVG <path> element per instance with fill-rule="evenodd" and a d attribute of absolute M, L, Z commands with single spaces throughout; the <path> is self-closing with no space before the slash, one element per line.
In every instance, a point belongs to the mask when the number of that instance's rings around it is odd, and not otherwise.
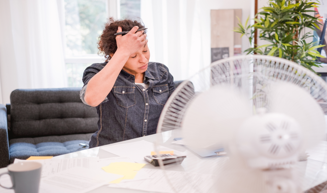
<path fill-rule="evenodd" d="M 87 83 L 107 63 L 85 69 L 80 94 L 84 103 Z M 96 106 L 98 131 L 91 137 L 90 148 L 156 133 L 163 106 L 175 90 L 173 76 L 165 65 L 149 62 L 143 82 L 149 88 L 134 83 L 135 76 L 121 70 L 106 99 Z"/>

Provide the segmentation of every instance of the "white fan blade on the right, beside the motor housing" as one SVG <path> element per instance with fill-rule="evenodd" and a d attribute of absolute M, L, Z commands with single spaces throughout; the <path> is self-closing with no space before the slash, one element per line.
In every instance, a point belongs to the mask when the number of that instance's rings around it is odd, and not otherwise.
<path fill-rule="evenodd" d="M 302 150 L 324 137 L 324 112 L 308 90 L 291 83 L 275 83 L 269 89 L 268 101 L 269 112 L 283 113 L 299 122 L 305 137 Z"/>

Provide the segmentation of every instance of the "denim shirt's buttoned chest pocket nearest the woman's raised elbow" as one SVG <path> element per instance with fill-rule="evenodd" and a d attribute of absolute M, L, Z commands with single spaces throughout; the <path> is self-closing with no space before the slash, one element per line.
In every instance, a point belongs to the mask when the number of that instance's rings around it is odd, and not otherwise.
<path fill-rule="evenodd" d="M 113 94 L 116 97 L 117 104 L 123 107 L 135 105 L 135 87 L 115 86 Z"/>

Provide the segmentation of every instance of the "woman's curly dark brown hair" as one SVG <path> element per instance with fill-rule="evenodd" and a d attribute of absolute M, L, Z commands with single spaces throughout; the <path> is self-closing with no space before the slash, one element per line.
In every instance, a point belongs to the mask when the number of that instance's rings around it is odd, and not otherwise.
<path fill-rule="evenodd" d="M 111 59 L 110 54 L 114 54 L 117 51 L 116 36 L 113 34 L 117 33 L 118 26 L 122 28 L 122 31 L 130 31 L 134 26 L 138 26 L 139 29 L 144 28 L 144 24 L 136 20 L 114 20 L 113 17 L 109 18 L 97 43 L 97 48 L 99 49 L 98 54 L 103 54 L 106 61 Z M 144 33 L 146 33 L 146 30 Z"/>

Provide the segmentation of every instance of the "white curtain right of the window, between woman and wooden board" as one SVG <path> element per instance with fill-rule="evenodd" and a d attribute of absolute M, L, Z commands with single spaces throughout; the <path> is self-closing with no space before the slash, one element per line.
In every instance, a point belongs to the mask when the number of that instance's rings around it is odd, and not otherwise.
<path fill-rule="evenodd" d="M 199 4 L 199 0 L 141 0 L 150 61 L 165 64 L 174 80 L 185 80 L 210 64 L 203 57 Z"/>

